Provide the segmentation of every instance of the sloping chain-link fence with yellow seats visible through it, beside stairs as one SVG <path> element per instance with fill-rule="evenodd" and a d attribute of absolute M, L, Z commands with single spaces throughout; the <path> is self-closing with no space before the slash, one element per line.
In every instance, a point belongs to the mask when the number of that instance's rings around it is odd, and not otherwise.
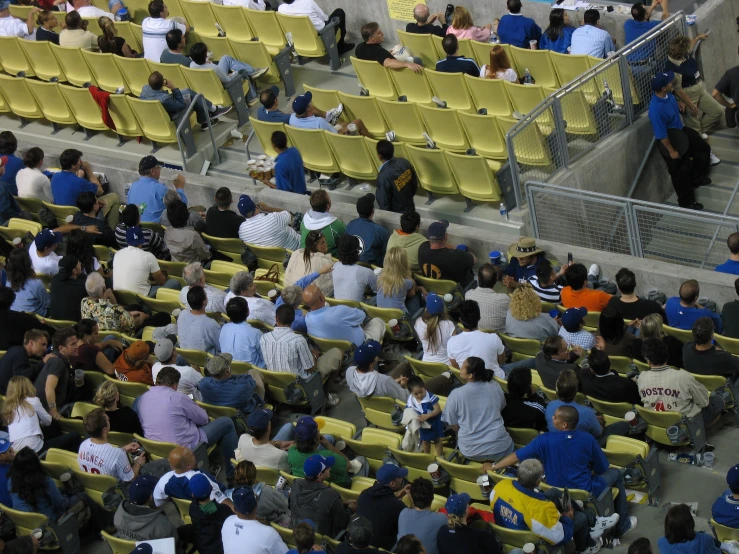
<path fill-rule="evenodd" d="M 506 134 L 518 206 L 526 201 L 524 183 L 567 168 L 647 110 L 651 77 L 664 69 L 670 41 L 685 30 L 685 14 L 678 12 L 606 60 L 552 54 L 560 81 L 570 82 L 554 91 L 526 90 L 532 98 L 551 94 Z"/>

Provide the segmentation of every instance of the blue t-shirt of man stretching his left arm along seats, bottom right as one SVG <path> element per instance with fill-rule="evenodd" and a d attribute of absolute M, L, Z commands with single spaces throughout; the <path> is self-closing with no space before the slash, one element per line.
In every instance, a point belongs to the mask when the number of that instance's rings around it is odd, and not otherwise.
<path fill-rule="evenodd" d="M 600 474 L 608 469 L 608 458 L 585 431 L 543 433 L 517 450 L 516 456 L 521 461 L 540 460 L 552 487 L 583 489 L 596 496 L 606 487 Z"/>

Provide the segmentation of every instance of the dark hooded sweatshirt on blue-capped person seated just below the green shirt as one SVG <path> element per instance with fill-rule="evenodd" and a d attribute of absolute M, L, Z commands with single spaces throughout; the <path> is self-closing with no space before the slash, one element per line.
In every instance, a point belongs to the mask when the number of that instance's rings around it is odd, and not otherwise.
<path fill-rule="evenodd" d="M 349 514 L 344 509 L 339 493 L 328 485 L 305 479 L 293 482 L 290 515 L 293 525 L 306 518 L 312 519 L 317 526 L 316 533 L 329 537 L 335 537 L 349 524 Z"/>

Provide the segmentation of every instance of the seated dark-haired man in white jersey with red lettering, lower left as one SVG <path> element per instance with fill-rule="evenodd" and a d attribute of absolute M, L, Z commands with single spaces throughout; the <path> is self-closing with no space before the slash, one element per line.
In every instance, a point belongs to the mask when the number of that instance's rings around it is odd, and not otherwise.
<path fill-rule="evenodd" d="M 146 463 L 146 454 L 137 456 L 133 464 L 128 461 L 128 454 L 135 453 L 139 444 L 132 442 L 120 448 L 109 444 L 110 420 L 102 408 L 85 414 L 82 420 L 90 438 L 80 445 L 77 454 L 80 469 L 85 473 L 112 475 L 123 483 L 136 479 Z"/>

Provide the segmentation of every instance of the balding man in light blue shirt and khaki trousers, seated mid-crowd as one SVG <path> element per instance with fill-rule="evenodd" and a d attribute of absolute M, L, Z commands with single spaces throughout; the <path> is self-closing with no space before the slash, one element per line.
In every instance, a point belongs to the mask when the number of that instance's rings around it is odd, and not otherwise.
<path fill-rule="evenodd" d="M 365 314 L 359 308 L 349 306 L 328 306 L 321 289 L 311 284 L 303 291 L 303 302 L 310 312 L 305 316 L 308 335 L 321 339 L 346 340 L 355 346 L 366 340 L 381 341 L 385 336 L 385 322 L 378 317 L 367 323 Z"/>

